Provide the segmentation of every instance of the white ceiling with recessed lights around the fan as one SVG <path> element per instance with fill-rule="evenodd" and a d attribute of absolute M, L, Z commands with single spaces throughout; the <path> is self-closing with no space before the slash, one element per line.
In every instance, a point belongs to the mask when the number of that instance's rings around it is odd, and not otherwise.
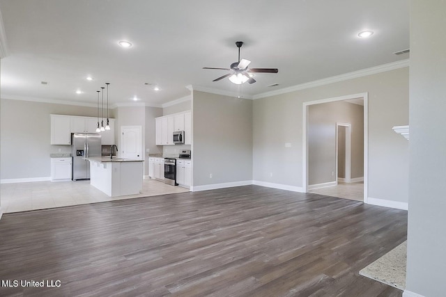
<path fill-rule="evenodd" d="M 409 47 L 408 0 L 0 0 L 0 12 L 3 98 L 95 106 L 106 82 L 110 104 L 160 106 L 190 95 L 187 85 L 252 97 L 408 58 L 393 54 Z M 366 29 L 374 35 L 358 38 Z M 201 68 L 237 61 L 238 40 L 249 67 L 279 73 L 213 82 L 226 72 Z"/>

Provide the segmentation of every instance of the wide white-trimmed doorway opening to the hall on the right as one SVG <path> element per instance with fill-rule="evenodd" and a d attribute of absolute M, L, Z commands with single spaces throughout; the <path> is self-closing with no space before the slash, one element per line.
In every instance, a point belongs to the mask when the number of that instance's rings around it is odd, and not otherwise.
<path fill-rule="evenodd" d="M 334 105 L 335 102 L 348 102 L 353 104 L 362 105 L 362 119 L 359 120 L 359 127 L 356 124 L 355 127 L 352 127 L 351 122 L 344 122 L 335 120 L 331 124 L 327 122 L 323 122 L 322 125 L 318 127 L 310 126 L 310 106 L 322 106 L 323 104 L 329 106 L 328 103 L 332 103 Z M 340 106 L 341 104 L 339 104 Z M 341 97 L 333 97 L 328 99 L 321 99 L 312 102 L 304 102 L 302 104 L 302 188 L 305 192 L 316 193 L 314 189 L 319 188 L 324 193 L 323 195 L 332 195 L 334 197 L 341 197 L 339 195 L 334 195 L 334 193 L 338 193 L 339 191 L 349 191 L 356 192 L 355 195 L 357 198 L 353 198 L 353 200 L 361 200 L 364 202 L 367 201 L 368 191 L 367 191 L 367 168 L 368 168 L 368 94 L 367 93 L 359 93 L 353 95 L 346 95 Z M 312 107 L 312 109 L 316 108 L 316 106 Z M 357 111 L 360 112 L 360 111 Z M 328 111 L 328 114 L 334 114 L 334 111 Z M 312 121 L 314 120 L 314 113 L 312 113 Z M 324 118 L 321 115 L 318 115 L 319 118 Z M 331 127 L 331 128 L 330 128 Z M 362 129 L 361 129 L 362 128 Z M 352 150 L 351 142 L 352 139 L 352 131 L 355 129 L 355 133 L 357 131 L 362 132 L 363 138 L 360 140 L 360 145 L 362 146 L 362 150 L 360 152 L 355 148 L 355 164 L 358 164 L 358 154 L 360 156 L 360 165 L 362 167 L 362 175 L 363 177 L 356 178 L 357 175 L 357 167 L 352 165 Z M 321 145 L 321 139 L 314 138 L 314 132 L 318 131 L 319 133 L 330 134 L 330 139 L 332 139 L 332 144 L 330 145 Z M 342 135 L 341 135 L 342 134 Z M 342 140 L 339 140 L 339 137 L 344 137 Z M 310 138 L 310 135 L 312 138 Z M 349 137 L 350 136 L 350 137 Z M 348 139 L 350 138 L 350 139 Z M 355 138 L 355 142 L 357 142 L 358 138 Z M 344 144 L 344 147 L 340 147 L 340 143 Z M 316 145 L 316 146 L 315 146 Z M 331 148 L 330 148 L 331 147 Z M 350 147 L 350 148 L 348 148 Z M 349 150 L 349 152 L 348 152 Z M 315 156 L 315 153 L 318 152 L 319 156 Z M 329 152 L 329 154 L 327 153 Z M 339 156 L 341 154 L 341 156 Z M 311 160 L 310 160 L 311 159 Z M 320 166 L 321 163 L 318 163 L 316 167 L 314 167 L 314 161 L 325 159 L 325 161 L 330 162 L 330 169 L 326 169 L 323 166 Z M 339 159 L 341 161 L 339 161 Z M 341 162 L 341 164 L 340 164 Z M 346 164 L 350 163 L 350 164 Z M 318 170 L 318 173 L 321 175 L 314 175 L 314 171 L 312 171 L 312 175 L 310 175 L 310 165 L 311 168 L 316 168 L 314 170 Z M 325 164 L 326 165 L 326 164 Z M 344 166 L 343 166 L 344 165 Z M 353 169 L 352 169 L 353 166 Z M 325 170 L 323 170 L 325 168 Z M 352 170 L 355 175 L 352 175 Z M 343 175 L 343 176 L 342 176 Z M 352 178 L 355 177 L 355 178 Z M 315 178 L 316 177 L 316 178 Z M 351 188 L 353 188 L 351 191 Z M 357 188 L 360 188 L 360 191 L 357 191 Z M 325 193 L 327 192 L 327 193 Z M 348 198 L 348 197 L 341 197 Z M 352 199 L 352 198 L 348 198 Z"/>

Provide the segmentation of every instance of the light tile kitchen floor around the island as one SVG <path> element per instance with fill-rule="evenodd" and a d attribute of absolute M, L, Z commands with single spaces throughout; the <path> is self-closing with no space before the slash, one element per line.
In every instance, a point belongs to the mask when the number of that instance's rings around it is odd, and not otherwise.
<path fill-rule="evenodd" d="M 89 180 L 79 180 L 77 182 L 23 182 L 0 185 L 1 210 L 4 214 L 188 191 L 188 188 L 169 186 L 153 179 L 143 180 L 141 193 L 118 197 L 109 197 L 102 193 L 102 191 L 91 186 Z"/>

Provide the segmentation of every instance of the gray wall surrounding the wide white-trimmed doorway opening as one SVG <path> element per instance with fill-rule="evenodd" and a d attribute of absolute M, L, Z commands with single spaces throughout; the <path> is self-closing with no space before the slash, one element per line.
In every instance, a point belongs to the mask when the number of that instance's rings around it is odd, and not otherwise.
<path fill-rule="evenodd" d="M 254 100 L 253 179 L 302 187 L 302 103 L 368 92 L 369 197 L 407 202 L 408 141 L 392 127 L 408 123 L 408 79 L 405 67 Z"/>

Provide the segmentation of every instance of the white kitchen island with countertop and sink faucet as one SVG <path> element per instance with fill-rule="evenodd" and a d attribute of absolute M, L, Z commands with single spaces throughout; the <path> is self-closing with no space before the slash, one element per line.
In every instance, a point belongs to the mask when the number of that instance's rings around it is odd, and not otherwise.
<path fill-rule="evenodd" d="M 142 160 L 91 157 L 90 184 L 110 197 L 142 190 Z"/>

